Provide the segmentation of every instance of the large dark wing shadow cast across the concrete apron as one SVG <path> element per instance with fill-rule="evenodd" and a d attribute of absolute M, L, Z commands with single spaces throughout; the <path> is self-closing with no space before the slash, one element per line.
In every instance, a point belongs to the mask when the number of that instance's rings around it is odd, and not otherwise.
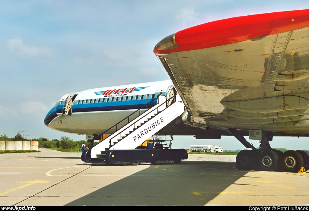
<path fill-rule="evenodd" d="M 66 205 L 205 205 L 231 184 L 245 185 L 235 181 L 248 171 L 235 171 L 234 165 L 235 162 L 158 162 Z M 89 177 L 88 181 L 96 186 L 96 180 L 104 179 Z M 83 192 L 83 188 L 80 190 Z"/>

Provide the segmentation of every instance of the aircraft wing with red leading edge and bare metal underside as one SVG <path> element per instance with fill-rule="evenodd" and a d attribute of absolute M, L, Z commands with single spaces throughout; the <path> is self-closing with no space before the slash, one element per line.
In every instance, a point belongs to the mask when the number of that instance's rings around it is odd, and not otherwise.
<path fill-rule="evenodd" d="M 247 27 L 248 34 L 244 34 L 246 30 L 237 21 Z M 280 112 L 309 108 L 309 10 L 237 17 L 222 22 L 197 26 L 195 33 L 194 27 L 177 32 L 159 42 L 154 50 L 180 93 L 191 124 L 200 128 L 248 129 L 250 124 L 254 129 L 282 128 L 289 117 L 281 118 L 279 124 Z M 263 25 L 264 22 L 268 24 Z M 210 33 L 224 39 L 216 41 Z M 232 110 L 234 117 L 223 112 L 226 109 Z M 246 116 L 270 114 L 260 115 L 265 120 L 259 120 L 259 124 L 235 118 L 235 112 L 247 112 Z M 267 120 L 267 116 L 274 116 L 272 112 L 278 119 Z M 292 122 L 307 120 L 290 119 Z"/>

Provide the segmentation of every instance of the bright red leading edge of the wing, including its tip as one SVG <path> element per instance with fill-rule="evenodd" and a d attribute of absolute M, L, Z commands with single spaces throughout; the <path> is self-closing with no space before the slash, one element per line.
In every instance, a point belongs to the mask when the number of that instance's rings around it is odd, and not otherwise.
<path fill-rule="evenodd" d="M 259 36 L 274 35 L 309 26 L 309 10 L 294 10 L 255 14 L 204 23 L 178 31 L 167 37 L 168 48 L 160 48 L 160 41 L 154 53 L 171 53 L 211 48 L 246 41 Z M 166 42 L 166 38 L 164 40 Z M 164 45 L 166 46 L 166 45 Z"/>

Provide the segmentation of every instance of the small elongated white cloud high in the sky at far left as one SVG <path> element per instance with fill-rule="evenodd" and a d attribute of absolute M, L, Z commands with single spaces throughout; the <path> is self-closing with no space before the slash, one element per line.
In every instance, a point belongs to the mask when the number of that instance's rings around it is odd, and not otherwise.
<path fill-rule="evenodd" d="M 21 56 L 35 57 L 35 58 L 50 58 L 53 57 L 53 51 L 49 48 L 43 47 L 29 47 L 23 44 L 20 39 L 9 39 L 9 47 L 12 51 Z"/>

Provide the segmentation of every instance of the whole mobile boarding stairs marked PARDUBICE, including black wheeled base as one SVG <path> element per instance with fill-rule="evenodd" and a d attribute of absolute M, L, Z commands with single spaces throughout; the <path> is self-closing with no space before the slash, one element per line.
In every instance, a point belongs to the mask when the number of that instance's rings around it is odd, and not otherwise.
<path fill-rule="evenodd" d="M 132 121 L 129 121 L 129 117 L 140 112 L 143 107 L 109 128 L 108 130 L 111 130 L 116 127 L 116 132 L 90 150 L 85 150 L 82 154 L 82 161 L 107 164 L 131 162 L 136 165 L 139 162 L 155 163 L 159 160 L 173 160 L 178 164 L 182 159 L 187 159 L 188 154 L 185 149 L 170 149 L 169 147 L 136 149 L 150 136 L 159 133 L 164 126 L 184 113 L 184 106 L 176 100 L 176 97 L 177 95 L 167 99 L 165 95 L 159 95 L 151 101 L 157 100 L 157 104 Z M 118 125 L 123 124 L 124 121 L 128 123 L 118 128 Z M 108 130 L 99 136 L 108 134 Z"/>

